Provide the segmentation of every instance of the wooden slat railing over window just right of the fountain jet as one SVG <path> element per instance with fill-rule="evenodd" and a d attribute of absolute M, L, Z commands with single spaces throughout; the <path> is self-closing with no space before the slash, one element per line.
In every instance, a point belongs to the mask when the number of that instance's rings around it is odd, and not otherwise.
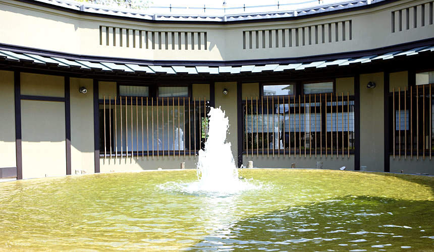
<path fill-rule="evenodd" d="M 247 156 L 349 157 L 355 148 L 349 93 L 245 97 L 243 113 Z"/>

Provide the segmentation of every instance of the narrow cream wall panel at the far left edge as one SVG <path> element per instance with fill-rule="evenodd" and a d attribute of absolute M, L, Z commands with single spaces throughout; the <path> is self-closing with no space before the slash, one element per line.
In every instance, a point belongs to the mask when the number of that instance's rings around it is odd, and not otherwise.
<path fill-rule="evenodd" d="M 14 72 L 0 71 L 0 168 L 16 167 Z"/>

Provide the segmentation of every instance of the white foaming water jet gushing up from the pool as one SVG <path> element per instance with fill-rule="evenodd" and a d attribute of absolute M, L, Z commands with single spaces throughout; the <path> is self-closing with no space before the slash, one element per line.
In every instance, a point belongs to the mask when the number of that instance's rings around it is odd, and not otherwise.
<path fill-rule="evenodd" d="M 208 116 L 208 138 L 204 150 L 199 150 L 197 162 L 198 181 L 168 182 L 161 187 L 182 193 L 212 195 L 231 195 L 261 188 L 261 184 L 238 177 L 231 143 L 226 142 L 229 118 L 225 111 L 221 107 L 211 107 Z"/>

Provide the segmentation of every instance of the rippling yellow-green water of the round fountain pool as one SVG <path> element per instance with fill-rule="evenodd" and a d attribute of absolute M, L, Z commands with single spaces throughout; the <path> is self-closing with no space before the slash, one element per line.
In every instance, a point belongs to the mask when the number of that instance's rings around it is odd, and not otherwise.
<path fill-rule="evenodd" d="M 434 249 L 434 177 L 291 169 L 240 176 L 258 188 L 179 190 L 197 180 L 195 170 L 0 183 L 0 250 Z"/>

